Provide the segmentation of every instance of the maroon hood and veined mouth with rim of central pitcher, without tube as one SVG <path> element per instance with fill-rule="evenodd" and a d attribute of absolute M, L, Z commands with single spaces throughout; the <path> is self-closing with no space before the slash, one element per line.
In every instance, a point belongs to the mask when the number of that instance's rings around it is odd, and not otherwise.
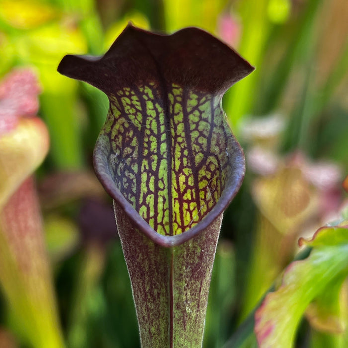
<path fill-rule="evenodd" d="M 244 155 L 221 99 L 253 69 L 203 30 L 158 35 L 131 25 L 104 56 L 60 63 L 59 72 L 109 97 L 94 168 L 116 206 L 154 241 L 191 238 L 239 189 Z"/>

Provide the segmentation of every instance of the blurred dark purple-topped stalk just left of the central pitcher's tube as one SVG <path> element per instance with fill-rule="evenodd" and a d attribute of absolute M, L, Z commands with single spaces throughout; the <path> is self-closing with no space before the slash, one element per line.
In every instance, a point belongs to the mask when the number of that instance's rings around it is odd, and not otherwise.
<path fill-rule="evenodd" d="M 80 209 L 78 220 L 84 248 L 81 251 L 79 275 L 74 284 L 74 300 L 70 308 L 67 340 L 71 348 L 95 345 L 92 341 L 94 333 L 86 333 L 85 328 L 90 322 L 102 320 L 107 310 L 100 278 L 109 242 L 116 237 L 113 209 L 108 203 L 87 199 Z M 127 324 L 129 325 L 125 322 Z"/>

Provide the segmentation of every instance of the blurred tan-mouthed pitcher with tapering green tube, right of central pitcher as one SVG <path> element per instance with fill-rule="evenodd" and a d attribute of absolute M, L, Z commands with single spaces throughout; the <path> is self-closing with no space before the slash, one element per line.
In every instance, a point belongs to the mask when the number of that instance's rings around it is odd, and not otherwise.
<path fill-rule="evenodd" d="M 318 205 L 313 187 L 291 164 L 255 180 L 252 191 L 259 212 L 243 316 L 249 314 L 291 260 L 296 232 Z"/>

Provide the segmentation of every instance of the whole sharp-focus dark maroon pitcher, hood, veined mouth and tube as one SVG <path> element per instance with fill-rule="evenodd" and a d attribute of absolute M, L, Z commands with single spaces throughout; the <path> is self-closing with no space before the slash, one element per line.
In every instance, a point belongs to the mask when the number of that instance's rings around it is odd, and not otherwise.
<path fill-rule="evenodd" d="M 143 347 L 201 347 L 222 213 L 245 172 L 221 108 L 253 70 L 210 34 L 128 25 L 102 57 L 58 71 L 104 91 L 94 168 L 114 199 Z"/>

